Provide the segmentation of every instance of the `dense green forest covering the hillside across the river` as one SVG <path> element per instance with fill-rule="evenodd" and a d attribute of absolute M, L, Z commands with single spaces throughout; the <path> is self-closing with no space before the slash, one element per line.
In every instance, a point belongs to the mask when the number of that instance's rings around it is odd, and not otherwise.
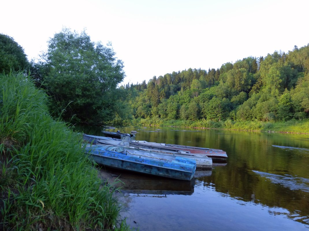
<path fill-rule="evenodd" d="M 135 118 L 278 122 L 309 113 L 309 44 L 221 68 L 167 73 L 123 86 Z"/>

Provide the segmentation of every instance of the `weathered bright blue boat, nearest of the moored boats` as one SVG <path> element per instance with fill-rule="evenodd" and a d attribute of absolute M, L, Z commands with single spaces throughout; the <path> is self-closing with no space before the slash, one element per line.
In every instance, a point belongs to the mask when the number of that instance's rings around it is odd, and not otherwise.
<path fill-rule="evenodd" d="M 159 159 L 146 155 L 135 155 L 124 147 L 102 145 L 87 146 L 89 158 L 96 163 L 117 169 L 167 177 L 171 179 L 193 179 L 196 163 L 194 160 L 176 157 L 175 160 Z"/>

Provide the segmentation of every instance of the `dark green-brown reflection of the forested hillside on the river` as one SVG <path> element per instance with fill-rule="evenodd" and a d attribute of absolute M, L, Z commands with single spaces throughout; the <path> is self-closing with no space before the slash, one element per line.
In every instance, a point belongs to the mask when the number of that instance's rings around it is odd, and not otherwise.
<path fill-rule="evenodd" d="M 128 128 L 125 132 L 131 130 L 132 128 Z M 136 139 L 226 151 L 228 158 L 225 166 L 214 166 L 210 176 L 196 177 L 195 189 L 201 187 L 214 190 L 222 197 L 239 201 L 239 204 L 266 206 L 272 215 L 282 215 L 309 224 L 309 155 L 306 150 L 309 149 L 308 135 L 224 130 L 186 132 L 170 131 L 170 127 L 162 130 L 165 132 L 140 132 Z M 269 175 L 268 179 L 252 170 L 278 177 L 271 178 Z M 283 178 L 280 178 L 281 176 Z M 292 178 L 288 179 L 289 177 Z M 151 185 L 151 179 L 143 180 L 144 183 L 149 181 Z M 276 183 L 276 180 L 279 182 Z M 130 187 L 135 186 L 132 184 Z M 136 194 L 141 195 L 140 192 Z"/>

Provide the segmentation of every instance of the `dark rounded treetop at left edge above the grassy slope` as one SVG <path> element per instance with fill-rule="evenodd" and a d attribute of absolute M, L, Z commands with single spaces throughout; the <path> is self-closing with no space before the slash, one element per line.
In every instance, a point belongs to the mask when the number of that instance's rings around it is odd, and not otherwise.
<path fill-rule="evenodd" d="M 8 35 L 0 34 L 0 72 L 24 71 L 29 66 L 27 56 L 18 43 Z"/>

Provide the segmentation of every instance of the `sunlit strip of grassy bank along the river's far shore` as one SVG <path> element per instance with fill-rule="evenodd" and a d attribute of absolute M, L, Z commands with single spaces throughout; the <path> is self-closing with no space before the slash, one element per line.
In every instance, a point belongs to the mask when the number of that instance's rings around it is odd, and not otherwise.
<path fill-rule="evenodd" d="M 212 120 L 160 120 L 159 118 L 136 119 L 134 126 L 176 126 L 190 128 L 216 128 L 243 131 L 271 131 L 284 133 L 309 134 L 309 119 L 289 120 L 286 122 L 263 122 L 263 121 L 212 121 Z"/>

